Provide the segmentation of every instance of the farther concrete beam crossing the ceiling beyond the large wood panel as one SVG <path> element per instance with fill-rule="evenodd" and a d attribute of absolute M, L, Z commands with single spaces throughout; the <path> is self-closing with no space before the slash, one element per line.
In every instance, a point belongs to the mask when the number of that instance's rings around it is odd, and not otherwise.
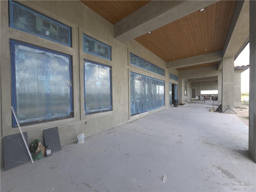
<path fill-rule="evenodd" d="M 207 53 L 194 57 L 179 59 L 175 61 L 166 62 L 166 68 L 180 68 L 204 63 L 211 63 L 221 61 L 223 58 L 222 51 Z"/>

